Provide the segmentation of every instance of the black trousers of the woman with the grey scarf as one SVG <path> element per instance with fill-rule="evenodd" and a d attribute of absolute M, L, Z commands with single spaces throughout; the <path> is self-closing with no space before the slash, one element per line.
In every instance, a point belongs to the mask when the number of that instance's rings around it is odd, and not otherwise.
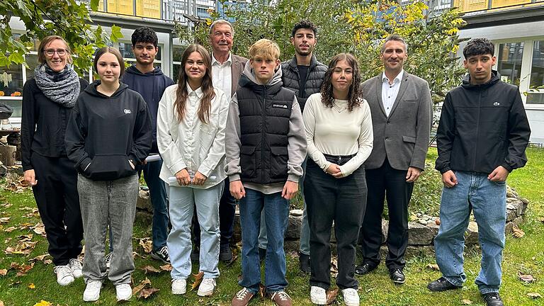
<path fill-rule="evenodd" d="M 83 223 L 77 193 L 77 171 L 67 157 L 33 153 L 30 162 L 38 184 L 32 191 L 55 266 L 64 266 L 81 253 Z"/>

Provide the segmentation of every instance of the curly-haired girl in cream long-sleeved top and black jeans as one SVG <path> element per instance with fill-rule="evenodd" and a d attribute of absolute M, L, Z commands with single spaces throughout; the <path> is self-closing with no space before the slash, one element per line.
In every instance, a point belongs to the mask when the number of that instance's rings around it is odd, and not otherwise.
<path fill-rule="evenodd" d="M 310 223 L 310 300 L 327 304 L 331 285 L 331 226 L 334 221 L 338 276 L 347 306 L 359 305 L 356 243 L 366 203 L 363 162 L 373 147 L 372 118 L 363 99 L 353 55 L 332 58 L 321 93 L 306 101 L 302 118 L 308 142 L 304 196 Z"/>

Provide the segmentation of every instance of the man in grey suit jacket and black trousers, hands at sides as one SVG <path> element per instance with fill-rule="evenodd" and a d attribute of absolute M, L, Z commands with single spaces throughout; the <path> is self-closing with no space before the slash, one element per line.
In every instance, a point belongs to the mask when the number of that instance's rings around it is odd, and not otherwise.
<path fill-rule="evenodd" d="M 408 203 L 414 181 L 425 167 L 431 132 L 429 84 L 402 69 L 407 44 L 399 35 L 385 39 L 380 58 L 385 71 L 363 83 L 372 113 L 374 147 L 365 162 L 368 198 L 361 227 L 363 263 L 356 273 L 373 271 L 380 263 L 382 212 L 389 211 L 387 258 L 393 283 L 404 283 L 402 269 L 408 244 Z"/>

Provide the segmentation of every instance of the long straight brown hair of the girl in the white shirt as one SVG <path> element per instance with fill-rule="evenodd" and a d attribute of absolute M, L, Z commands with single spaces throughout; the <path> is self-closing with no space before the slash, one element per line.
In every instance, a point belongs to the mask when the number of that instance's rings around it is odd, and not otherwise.
<path fill-rule="evenodd" d="M 187 74 L 185 73 L 185 64 L 188 60 L 189 55 L 193 52 L 198 52 L 204 60 L 206 66 L 206 72 L 204 78 L 202 79 L 202 89 L 203 96 L 200 99 L 200 106 L 198 106 L 198 119 L 203 123 L 208 123 L 210 120 L 210 110 L 212 108 L 212 99 L 215 98 L 215 91 L 213 91 L 212 83 L 212 59 L 208 51 L 204 49 L 203 46 L 198 44 L 191 44 L 187 47 L 183 56 L 181 57 L 181 67 L 179 69 L 178 77 L 178 90 L 176 91 L 176 101 L 174 102 L 174 109 L 178 115 L 178 121 L 181 122 L 185 118 L 186 111 L 186 102 L 188 98 L 187 94 Z"/>

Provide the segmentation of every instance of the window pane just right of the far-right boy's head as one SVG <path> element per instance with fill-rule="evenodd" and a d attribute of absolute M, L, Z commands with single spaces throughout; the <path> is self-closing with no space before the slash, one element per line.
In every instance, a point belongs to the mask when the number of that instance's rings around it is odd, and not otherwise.
<path fill-rule="evenodd" d="M 499 45 L 497 71 L 502 81 L 519 86 L 523 42 L 509 42 Z"/>

